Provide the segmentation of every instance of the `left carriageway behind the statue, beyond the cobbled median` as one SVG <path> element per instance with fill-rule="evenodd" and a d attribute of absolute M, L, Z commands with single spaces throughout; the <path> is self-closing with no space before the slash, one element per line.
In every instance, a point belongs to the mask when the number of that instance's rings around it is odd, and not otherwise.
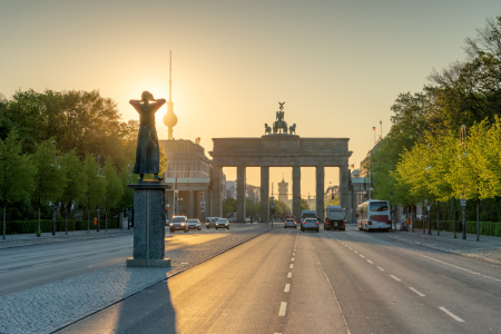
<path fill-rule="evenodd" d="M 235 225 L 229 230 L 203 228 L 187 234 L 170 234 L 166 229 L 166 252 L 256 226 Z M 0 249 L 0 296 L 124 263 L 131 256 L 131 234 Z"/>

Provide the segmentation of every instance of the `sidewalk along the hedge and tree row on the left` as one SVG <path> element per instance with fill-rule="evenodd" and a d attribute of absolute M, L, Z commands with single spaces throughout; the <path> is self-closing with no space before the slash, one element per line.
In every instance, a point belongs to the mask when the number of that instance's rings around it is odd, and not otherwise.
<path fill-rule="evenodd" d="M 35 233 L 29 234 L 9 234 L 6 235 L 6 239 L 3 236 L 0 236 L 0 248 L 10 248 L 10 247 L 21 247 L 21 246 L 30 246 L 30 245 L 41 245 L 41 244 L 50 244 L 50 243 L 61 243 L 69 240 L 82 240 L 82 239 L 96 239 L 96 238 L 108 238 L 122 236 L 127 234 L 134 234 L 134 228 L 130 229 L 120 229 L 120 228 L 108 228 L 105 230 L 101 228 L 99 232 L 96 229 L 87 230 L 69 230 L 68 235 L 65 232 L 57 232 L 56 235 L 52 235 L 51 232 L 42 233 L 40 237 L 37 237 Z"/>

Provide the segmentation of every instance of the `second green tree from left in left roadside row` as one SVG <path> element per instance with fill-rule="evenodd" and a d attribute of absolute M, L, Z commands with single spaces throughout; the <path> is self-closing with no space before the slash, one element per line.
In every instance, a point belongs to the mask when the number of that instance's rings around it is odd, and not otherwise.
<path fill-rule="evenodd" d="M 57 205 L 61 199 L 66 185 L 66 171 L 56 159 L 56 145 L 53 138 L 36 144 L 32 155 L 35 173 L 35 191 L 32 198 L 38 203 L 38 235 L 40 235 L 40 207 L 42 204 Z M 53 225 L 53 224 L 52 224 Z M 53 228 L 52 228 L 53 229 Z M 55 230 L 52 230 L 53 233 Z"/>

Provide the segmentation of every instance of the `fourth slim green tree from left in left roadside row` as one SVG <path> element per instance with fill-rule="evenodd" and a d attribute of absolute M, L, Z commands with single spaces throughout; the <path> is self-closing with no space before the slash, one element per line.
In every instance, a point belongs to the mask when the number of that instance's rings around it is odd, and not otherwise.
<path fill-rule="evenodd" d="M 90 229 L 90 210 L 106 196 L 106 179 L 101 176 L 98 163 L 91 154 L 87 154 L 84 161 L 84 174 L 87 178 L 87 191 L 84 203 L 87 208 L 87 232 Z"/>

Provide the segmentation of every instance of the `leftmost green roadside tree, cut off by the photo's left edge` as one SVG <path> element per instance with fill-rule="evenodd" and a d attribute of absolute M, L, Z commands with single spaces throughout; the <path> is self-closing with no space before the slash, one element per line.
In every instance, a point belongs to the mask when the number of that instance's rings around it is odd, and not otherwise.
<path fill-rule="evenodd" d="M 33 165 L 22 154 L 22 145 L 13 130 L 2 140 L 0 138 L 0 204 L 3 208 L 3 238 L 6 238 L 7 205 L 28 199 L 33 188 Z"/>

